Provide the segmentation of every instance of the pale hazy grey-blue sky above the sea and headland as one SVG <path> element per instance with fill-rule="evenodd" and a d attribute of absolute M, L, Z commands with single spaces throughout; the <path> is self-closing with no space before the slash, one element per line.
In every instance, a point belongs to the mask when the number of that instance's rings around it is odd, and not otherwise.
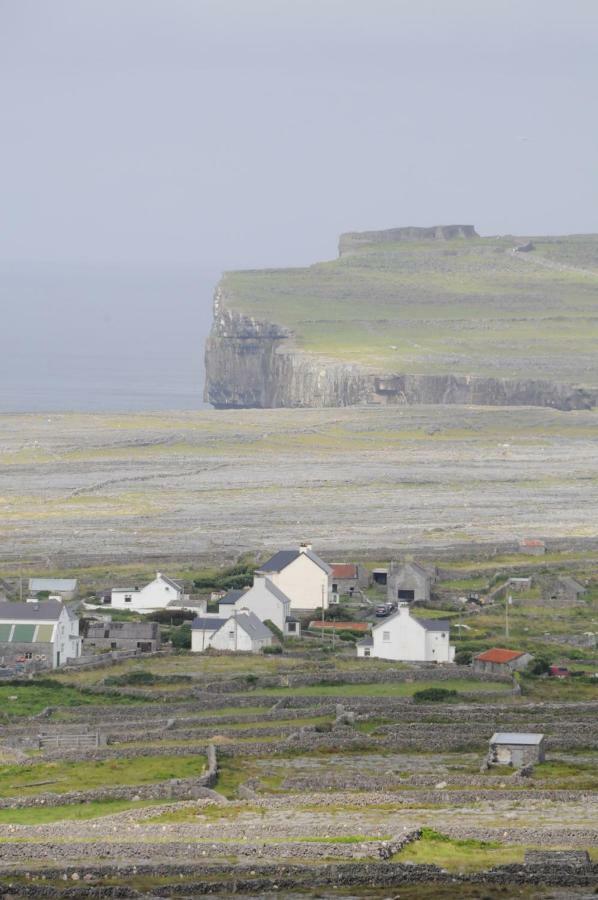
<path fill-rule="evenodd" d="M 222 269 L 342 231 L 598 231 L 597 46 L 595 0 L 0 0 L 5 327 L 40 284 L 124 316 L 98 267 L 160 269 L 193 353 Z"/>

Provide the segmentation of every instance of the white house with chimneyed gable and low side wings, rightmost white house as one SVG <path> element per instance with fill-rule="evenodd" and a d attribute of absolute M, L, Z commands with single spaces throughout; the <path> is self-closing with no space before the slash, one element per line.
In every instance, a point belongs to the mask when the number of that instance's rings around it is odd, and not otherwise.
<path fill-rule="evenodd" d="M 394 616 L 374 625 L 371 636 L 357 644 L 358 656 L 375 656 L 401 662 L 453 662 L 448 619 L 418 619 L 406 603 Z"/>

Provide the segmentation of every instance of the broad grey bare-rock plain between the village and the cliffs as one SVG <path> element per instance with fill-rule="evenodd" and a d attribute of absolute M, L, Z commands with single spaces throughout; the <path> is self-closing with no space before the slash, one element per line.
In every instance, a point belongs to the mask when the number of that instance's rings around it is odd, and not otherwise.
<path fill-rule="evenodd" d="M 225 560 L 598 537 L 598 412 L 460 406 L 0 417 L 0 560 Z"/>

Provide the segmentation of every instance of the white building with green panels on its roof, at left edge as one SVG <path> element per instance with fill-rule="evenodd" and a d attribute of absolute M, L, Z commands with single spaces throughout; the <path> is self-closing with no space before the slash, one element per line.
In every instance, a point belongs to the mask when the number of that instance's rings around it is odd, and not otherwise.
<path fill-rule="evenodd" d="M 79 620 L 64 603 L 0 604 L 0 664 L 55 669 L 80 655 Z"/>

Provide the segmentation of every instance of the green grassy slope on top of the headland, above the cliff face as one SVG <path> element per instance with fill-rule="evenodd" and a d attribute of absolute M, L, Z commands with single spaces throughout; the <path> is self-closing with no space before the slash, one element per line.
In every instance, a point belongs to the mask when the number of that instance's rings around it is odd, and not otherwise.
<path fill-rule="evenodd" d="M 378 240 L 304 269 L 230 272 L 226 306 L 377 373 L 598 386 L 598 235 Z"/>

